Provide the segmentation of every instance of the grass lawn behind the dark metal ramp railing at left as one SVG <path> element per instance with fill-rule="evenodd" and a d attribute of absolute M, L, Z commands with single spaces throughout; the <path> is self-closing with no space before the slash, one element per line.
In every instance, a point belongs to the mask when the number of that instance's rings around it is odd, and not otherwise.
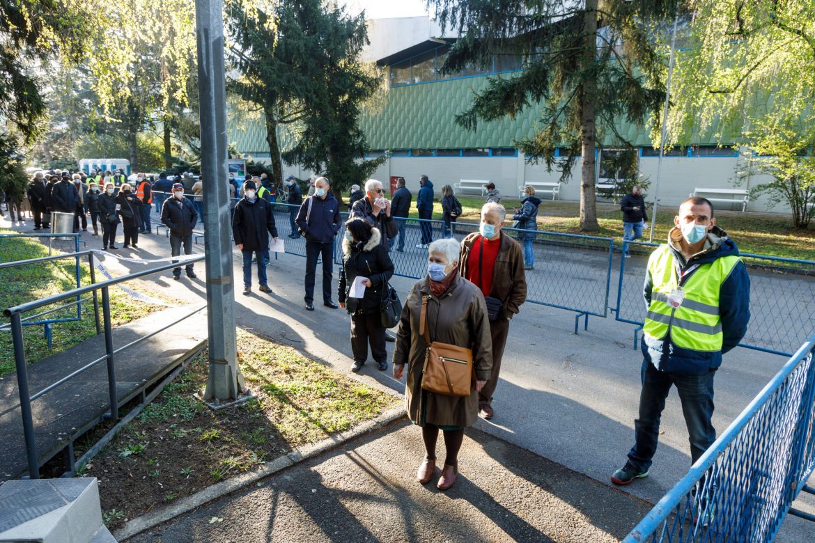
<path fill-rule="evenodd" d="M 0 230 L 0 234 L 12 233 L 11 230 Z M 20 261 L 32 258 L 48 256 L 48 247 L 33 238 L 11 238 L 0 239 L 0 261 Z M 76 261 L 66 259 L 64 261 L 48 262 L 40 265 L 29 265 L 11 269 L 0 269 L 0 311 L 27 301 L 37 300 L 46 296 L 51 296 L 59 292 L 64 292 L 77 287 L 75 273 Z M 81 284 L 90 284 L 90 269 L 87 262 L 80 266 Z M 97 275 L 97 281 L 99 281 Z M 88 295 L 90 296 L 90 295 Z M 156 297 L 155 295 L 153 295 Z M 68 300 L 60 304 L 67 303 Z M 99 304 L 102 302 L 99 295 Z M 148 314 L 162 309 L 159 305 L 147 304 L 139 301 L 134 304 L 134 300 L 125 292 L 113 288 L 110 291 L 111 320 L 113 326 L 120 326 L 126 322 L 134 321 Z M 36 313 L 41 313 L 47 309 L 58 307 L 46 306 L 36 311 L 29 312 L 23 317 L 29 317 Z M 101 307 L 99 313 L 101 315 Z M 55 313 L 44 315 L 42 318 L 69 318 L 76 317 L 75 306 L 66 309 L 59 309 Z M 39 320 L 37 318 L 32 319 Z M 9 319 L 2 317 L 3 324 Z M 53 353 L 59 353 L 66 348 L 73 347 L 84 339 L 96 335 L 96 324 L 93 312 L 92 300 L 82 303 L 81 321 L 57 322 L 52 325 L 52 349 L 49 350 L 46 338 L 43 334 L 42 325 L 23 326 L 23 337 L 25 339 L 25 357 L 30 362 L 38 361 L 49 357 Z M 0 331 L 0 375 L 11 373 L 15 370 L 14 347 L 11 343 L 11 332 Z"/>

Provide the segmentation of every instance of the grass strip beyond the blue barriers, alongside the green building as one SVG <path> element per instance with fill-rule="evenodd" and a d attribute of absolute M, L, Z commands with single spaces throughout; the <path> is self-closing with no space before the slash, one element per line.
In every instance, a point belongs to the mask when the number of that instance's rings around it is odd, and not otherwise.
<path fill-rule="evenodd" d="M 478 221 L 484 198 L 471 196 L 460 197 L 463 208 L 463 221 Z M 502 201 L 507 208 L 507 225 L 513 208 L 520 206 L 520 200 L 504 198 Z M 413 204 L 410 217 L 418 218 L 416 204 Z M 660 208 L 657 212 L 656 231 L 654 241 L 667 239 L 667 232 L 673 226 L 673 217 L 676 209 Z M 442 204 L 434 203 L 433 217 L 442 217 Z M 650 219 L 650 216 L 649 216 Z M 716 220 L 734 239 L 739 251 L 751 252 L 761 255 L 784 256 L 786 258 L 799 258 L 815 261 L 815 228 L 810 226 L 807 230 L 796 230 L 792 226 L 791 217 L 776 213 L 716 211 Z M 594 235 L 622 239 L 623 221 L 622 212 L 615 204 L 597 202 L 597 222 L 600 230 Z M 551 232 L 566 232 L 569 234 L 584 234 L 579 230 L 579 203 L 564 202 L 562 200 L 544 199 L 538 212 L 538 228 Z M 647 241 L 650 232 L 643 232 Z"/>

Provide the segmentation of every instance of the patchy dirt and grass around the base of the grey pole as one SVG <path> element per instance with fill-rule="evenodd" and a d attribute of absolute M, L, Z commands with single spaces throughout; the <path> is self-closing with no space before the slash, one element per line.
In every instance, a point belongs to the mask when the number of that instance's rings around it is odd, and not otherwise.
<path fill-rule="evenodd" d="M 218 412 L 196 398 L 207 353 L 78 475 L 99 478 L 108 528 L 374 418 L 399 399 L 240 331 L 240 370 L 256 400 Z"/>

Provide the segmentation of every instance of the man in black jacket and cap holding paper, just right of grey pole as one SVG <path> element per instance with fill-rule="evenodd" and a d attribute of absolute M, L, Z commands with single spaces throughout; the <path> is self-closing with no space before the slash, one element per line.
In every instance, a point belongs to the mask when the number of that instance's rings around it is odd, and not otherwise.
<path fill-rule="evenodd" d="M 244 294 L 252 292 L 252 255 L 258 261 L 258 282 L 261 292 L 271 292 L 267 284 L 266 264 L 269 234 L 277 241 L 275 216 L 271 204 L 258 196 L 254 182 L 244 183 L 244 197 L 238 200 L 232 216 L 232 237 L 244 257 Z"/>

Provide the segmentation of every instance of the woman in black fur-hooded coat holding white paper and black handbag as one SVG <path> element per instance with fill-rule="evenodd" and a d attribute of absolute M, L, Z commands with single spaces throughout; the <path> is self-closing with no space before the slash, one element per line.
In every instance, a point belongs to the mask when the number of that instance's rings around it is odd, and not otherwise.
<path fill-rule="evenodd" d="M 354 372 L 362 369 L 368 360 L 368 344 L 371 344 L 377 368 L 388 369 L 380 306 L 388 280 L 394 274 L 394 263 L 381 239 L 381 232 L 364 219 L 352 218 L 346 222 L 337 298 L 340 307 L 351 316 L 351 351 L 354 353 L 351 371 Z"/>

